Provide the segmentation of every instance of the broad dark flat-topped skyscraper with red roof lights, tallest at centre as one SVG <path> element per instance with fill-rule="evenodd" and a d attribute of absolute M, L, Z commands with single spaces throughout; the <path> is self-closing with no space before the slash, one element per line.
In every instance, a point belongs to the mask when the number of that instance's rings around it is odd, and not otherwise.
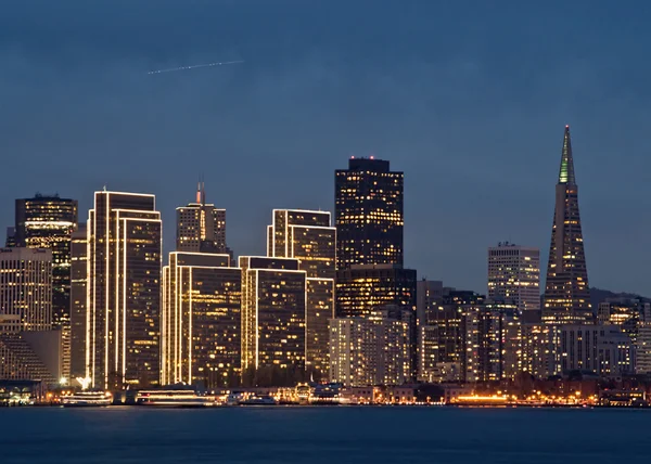
<path fill-rule="evenodd" d="M 373 157 L 335 171 L 337 269 L 403 265 L 403 172 Z"/>

